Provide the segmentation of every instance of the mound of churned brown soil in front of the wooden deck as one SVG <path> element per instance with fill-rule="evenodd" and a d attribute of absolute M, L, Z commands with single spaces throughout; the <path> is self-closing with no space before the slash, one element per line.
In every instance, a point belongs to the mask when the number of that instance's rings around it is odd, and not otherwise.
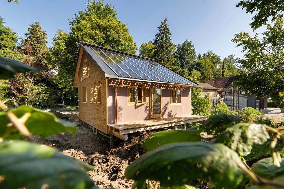
<path fill-rule="evenodd" d="M 91 179 L 100 188 L 131 188 L 133 181 L 125 179 L 125 169 L 143 154 L 141 140 L 148 138 L 152 133 L 135 133 L 118 147 L 105 151 L 104 155 L 93 159 L 94 170 L 88 172 Z"/>

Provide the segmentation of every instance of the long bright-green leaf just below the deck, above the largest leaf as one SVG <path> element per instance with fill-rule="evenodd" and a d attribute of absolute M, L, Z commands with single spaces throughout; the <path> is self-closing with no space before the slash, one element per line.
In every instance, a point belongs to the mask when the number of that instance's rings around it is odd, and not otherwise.
<path fill-rule="evenodd" d="M 150 137 L 146 138 L 142 142 L 143 145 L 141 147 L 144 148 L 144 151 L 150 152 L 155 148 L 163 146 L 165 144 L 174 143 L 174 142 L 200 142 L 203 139 L 200 136 L 200 130 L 191 130 L 191 131 L 183 131 L 183 130 L 173 130 L 173 131 L 161 131 L 152 134 Z"/>

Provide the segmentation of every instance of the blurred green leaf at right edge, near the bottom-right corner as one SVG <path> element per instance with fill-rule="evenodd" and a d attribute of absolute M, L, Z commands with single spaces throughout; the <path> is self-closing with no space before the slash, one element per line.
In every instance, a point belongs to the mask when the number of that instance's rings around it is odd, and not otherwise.
<path fill-rule="evenodd" d="M 277 176 L 284 175 L 284 158 L 280 163 L 281 167 L 273 165 L 273 158 L 267 157 L 259 160 L 252 165 L 252 171 L 265 179 L 274 179 Z"/>

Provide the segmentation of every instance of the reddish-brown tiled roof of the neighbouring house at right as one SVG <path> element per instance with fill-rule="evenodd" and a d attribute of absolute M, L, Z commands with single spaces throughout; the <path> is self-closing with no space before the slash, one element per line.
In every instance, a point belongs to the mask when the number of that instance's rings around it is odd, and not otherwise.
<path fill-rule="evenodd" d="M 220 91 L 232 91 L 231 84 L 233 81 L 239 80 L 243 75 L 229 76 L 223 78 L 214 78 L 208 81 L 209 85 L 219 88 Z"/>

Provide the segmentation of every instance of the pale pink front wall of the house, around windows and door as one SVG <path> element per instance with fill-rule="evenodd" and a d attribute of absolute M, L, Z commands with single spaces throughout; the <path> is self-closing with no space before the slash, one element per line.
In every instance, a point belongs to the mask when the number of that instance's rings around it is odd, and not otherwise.
<path fill-rule="evenodd" d="M 115 123 L 115 87 L 108 87 L 108 124 Z M 150 89 L 147 89 L 147 104 L 130 105 L 128 104 L 127 88 L 121 87 L 117 89 L 117 123 L 149 120 L 149 96 Z M 174 117 L 190 115 L 191 111 L 191 96 L 190 87 L 186 87 L 182 91 L 182 104 L 170 104 L 170 90 L 162 90 L 162 117 Z"/>

